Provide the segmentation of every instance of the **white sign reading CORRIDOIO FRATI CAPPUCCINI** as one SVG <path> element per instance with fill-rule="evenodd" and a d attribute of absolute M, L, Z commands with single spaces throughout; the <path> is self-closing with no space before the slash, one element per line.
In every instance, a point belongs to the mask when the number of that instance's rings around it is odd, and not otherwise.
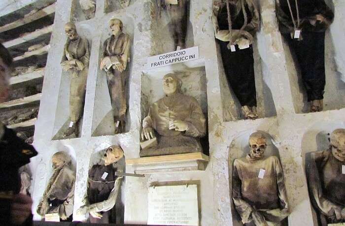
<path fill-rule="evenodd" d="M 147 58 L 146 69 L 152 69 L 199 59 L 199 47 L 181 49 Z"/>

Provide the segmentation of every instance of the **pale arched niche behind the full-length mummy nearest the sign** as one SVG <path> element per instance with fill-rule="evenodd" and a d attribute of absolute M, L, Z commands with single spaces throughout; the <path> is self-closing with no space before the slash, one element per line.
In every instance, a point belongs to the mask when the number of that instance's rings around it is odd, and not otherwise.
<path fill-rule="evenodd" d="M 130 47 L 130 62 L 127 63 L 127 68 L 124 72 L 124 76 L 127 78 L 126 86 L 126 128 L 125 131 L 128 132 L 131 127 L 131 119 L 129 112 L 130 103 L 130 83 L 133 76 L 133 56 L 134 56 L 134 20 L 133 18 L 121 14 L 119 16 L 112 16 L 104 19 L 104 27 L 102 28 L 102 38 L 101 45 L 98 56 L 98 66 L 97 66 L 97 81 L 96 81 L 96 95 L 94 100 L 93 108 L 93 120 L 92 120 L 92 136 L 102 136 L 102 135 L 113 135 L 115 124 L 113 118 L 113 110 L 110 102 L 110 95 L 108 90 L 108 85 L 106 81 L 106 73 L 104 70 L 100 69 L 100 63 L 103 58 L 103 44 L 104 41 L 110 37 L 111 33 L 109 31 L 108 22 L 111 18 L 118 18 L 123 23 L 123 32 L 128 34 L 131 39 Z M 96 76 L 96 75 L 95 75 Z"/>

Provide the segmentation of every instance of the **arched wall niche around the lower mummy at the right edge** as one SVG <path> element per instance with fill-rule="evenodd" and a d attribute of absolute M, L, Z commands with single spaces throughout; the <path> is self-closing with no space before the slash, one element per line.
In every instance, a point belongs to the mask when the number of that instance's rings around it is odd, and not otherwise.
<path fill-rule="evenodd" d="M 306 130 L 306 132 L 302 136 L 302 161 L 303 161 L 303 169 L 304 173 L 306 172 L 306 156 L 310 152 L 320 152 L 325 151 L 329 148 L 330 145 L 330 134 L 335 129 L 342 129 L 345 128 L 345 122 L 342 121 L 321 121 L 315 123 L 310 128 Z M 318 225 L 317 222 L 320 221 L 317 212 L 315 211 L 314 207 L 311 205 L 312 210 L 312 217 L 314 221 L 314 225 Z"/>

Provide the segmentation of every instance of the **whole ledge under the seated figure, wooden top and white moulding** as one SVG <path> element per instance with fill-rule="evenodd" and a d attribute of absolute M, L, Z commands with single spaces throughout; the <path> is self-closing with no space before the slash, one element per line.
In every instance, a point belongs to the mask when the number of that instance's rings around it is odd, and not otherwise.
<path fill-rule="evenodd" d="M 138 174 L 172 173 L 181 171 L 205 170 L 209 157 L 203 153 L 188 153 L 167 156 L 127 159 Z"/>

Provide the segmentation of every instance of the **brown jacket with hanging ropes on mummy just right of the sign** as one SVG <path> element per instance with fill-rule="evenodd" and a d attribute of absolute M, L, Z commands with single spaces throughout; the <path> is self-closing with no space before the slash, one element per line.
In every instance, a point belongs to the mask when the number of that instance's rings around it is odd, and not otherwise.
<path fill-rule="evenodd" d="M 242 26 L 245 20 L 242 11 L 242 0 L 238 0 L 236 3 L 230 2 L 232 35 L 230 35 L 229 32 L 226 4 L 217 0 L 213 1 L 212 22 L 213 26 L 219 27 L 219 31 L 215 32 L 215 37 L 217 39 L 221 41 L 230 41 L 230 36 L 232 36 L 232 42 L 234 42 L 236 39 L 244 37 L 249 40 L 249 44 L 252 43 L 255 33 L 259 30 L 260 16 L 259 11 L 252 0 L 244 1 L 243 5 L 245 7 L 247 24 L 243 29 Z M 242 31 L 239 32 L 241 29 Z"/>

